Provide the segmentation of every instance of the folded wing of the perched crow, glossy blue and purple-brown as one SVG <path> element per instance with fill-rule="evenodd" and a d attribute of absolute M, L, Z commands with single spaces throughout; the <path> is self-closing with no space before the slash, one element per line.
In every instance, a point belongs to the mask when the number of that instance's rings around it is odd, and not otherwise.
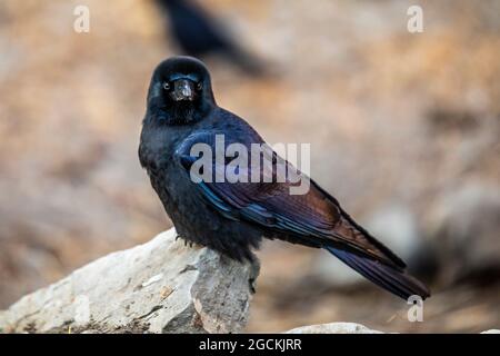
<path fill-rule="evenodd" d="M 216 135 L 217 132 L 213 131 L 198 132 L 188 137 L 179 146 L 176 157 L 188 175 L 193 174 L 192 165 L 200 158 L 192 155 L 191 148 L 194 144 L 204 144 L 214 152 Z M 249 137 L 248 134 L 240 138 L 246 147 L 249 147 L 249 141 L 260 139 L 258 136 Z M 226 147 L 238 141 L 234 138 L 228 138 L 227 132 L 224 140 Z M 250 151 L 248 155 L 251 156 Z M 273 151 L 271 155 L 278 157 Z M 292 167 L 289 162 L 286 165 Z M 262 166 L 259 167 L 261 177 L 269 175 L 263 171 L 264 165 L 259 166 Z M 228 167 L 228 160 L 212 159 L 212 165 L 203 167 L 211 170 L 209 175 L 212 176 L 212 181 L 204 179 L 196 182 L 208 204 L 224 217 L 257 224 L 271 234 L 288 235 L 292 241 L 300 244 L 348 249 L 391 267 L 400 269 L 404 267 L 400 258 L 357 225 L 342 210 L 338 201 L 312 180 L 309 191 L 303 195 L 290 195 L 290 188 L 297 184 L 289 179 L 284 182 L 217 182 L 216 172 L 226 172 Z M 248 169 L 250 177 L 252 167 L 249 166 Z M 208 172 L 203 171 L 203 174 Z"/>

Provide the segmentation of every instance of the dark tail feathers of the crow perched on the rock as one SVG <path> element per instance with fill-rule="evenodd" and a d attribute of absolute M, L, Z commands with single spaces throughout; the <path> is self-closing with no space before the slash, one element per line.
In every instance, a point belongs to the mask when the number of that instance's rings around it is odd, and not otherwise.
<path fill-rule="evenodd" d="M 363 277 L 406 300 L 412 295 L 422 299 L 430 296 L 429 289 L 422 283 L 402 269 L 334 247 L 327 246 L 326 249 Z"/>

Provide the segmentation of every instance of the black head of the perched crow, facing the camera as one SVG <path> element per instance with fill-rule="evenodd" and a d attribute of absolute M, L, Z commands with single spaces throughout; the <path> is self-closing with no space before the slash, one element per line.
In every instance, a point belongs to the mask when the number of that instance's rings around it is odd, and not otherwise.
<path fill-rule="evenodd" d="M 148 115 L 167 125 L 188 125 L 216 107 L 210 73 L 200 60 L 172 57 L 154 70 L 148 92 Z"/>

